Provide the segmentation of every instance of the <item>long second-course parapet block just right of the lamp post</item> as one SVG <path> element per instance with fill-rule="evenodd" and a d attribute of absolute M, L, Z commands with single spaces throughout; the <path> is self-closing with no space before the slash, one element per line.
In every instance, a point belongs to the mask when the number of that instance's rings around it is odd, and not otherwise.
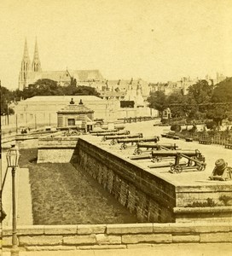
<path fill-rule="evenodd" d="M 62 236 L 20 236 L 20 246 L 60 245 Z"/>

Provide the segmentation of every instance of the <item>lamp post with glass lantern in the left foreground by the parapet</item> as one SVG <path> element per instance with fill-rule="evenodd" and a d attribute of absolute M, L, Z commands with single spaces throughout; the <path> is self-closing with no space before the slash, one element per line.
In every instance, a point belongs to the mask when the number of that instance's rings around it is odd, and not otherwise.
<path fill-rule="evenodd" d="M 18 256 L 19 249 L 17 244 L 17 229 L 16 229 L 16 202 L 15 202 L 15 172 L 19 164 L 20 152 L 19 149 L 12 145 L 7 154 L 7 164 L 11 167 L 12 172 L 12 249 L 11 256 Z"/>

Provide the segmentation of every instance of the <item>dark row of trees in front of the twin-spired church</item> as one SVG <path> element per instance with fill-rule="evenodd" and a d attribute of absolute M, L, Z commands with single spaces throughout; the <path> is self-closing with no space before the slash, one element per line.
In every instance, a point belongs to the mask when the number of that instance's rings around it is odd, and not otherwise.
<path fill-rule="evenodd" d="M 26 100 L 32 96 L 100 96 L 95 88 L 78 85 L 76 79 L 71 79 L 67 86 L 61 86 L 51 79 L 39 79 L 34 84 L 29 84 L 23 90 L 8 90 L 1 86 L 1 115 L 12 114 L 14 109 L 10 108 L 10 103 L 15 104 L 20 100 Z"/>

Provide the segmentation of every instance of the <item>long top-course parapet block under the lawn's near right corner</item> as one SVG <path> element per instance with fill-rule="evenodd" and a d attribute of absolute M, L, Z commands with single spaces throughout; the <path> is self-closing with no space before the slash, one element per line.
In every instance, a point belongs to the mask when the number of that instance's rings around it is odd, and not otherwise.
<path fill-rule="evenodd" d="M 152 233 L 153 224 L 107 224 L 107 234 L 140 234 Z"/>

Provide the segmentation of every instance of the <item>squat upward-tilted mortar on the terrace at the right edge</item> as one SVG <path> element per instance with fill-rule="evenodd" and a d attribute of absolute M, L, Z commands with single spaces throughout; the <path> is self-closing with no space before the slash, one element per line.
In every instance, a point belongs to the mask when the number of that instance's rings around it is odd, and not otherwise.
<path fill-rule="evenodd" d="M 218 159 L 215 162 L 215 167 L 212 171 L 212 175 L 209 177 L 211 180 L 231 180 L 232 179 L 232 167 L 229 167 L 228 164 L 223 159 Z"/>

